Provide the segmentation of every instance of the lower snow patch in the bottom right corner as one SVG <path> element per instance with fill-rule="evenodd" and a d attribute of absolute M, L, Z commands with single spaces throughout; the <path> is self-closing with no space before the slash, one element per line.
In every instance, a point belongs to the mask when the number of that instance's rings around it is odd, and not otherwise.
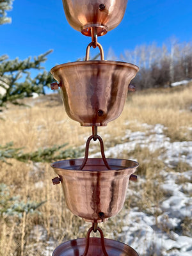
<path fill-rule="evenodd" d="M 192 170 L 182 174 L 190 179 Z M 173 176 L 177 176 L 177 173 L 174 172 L 164 171 L 163 175 L 166 175 L 166 182 L 161 187 L 169 195 L 159 205 L 159 211 L 163 213 L 156 219 L 155 216 L 139 212 L 137 207 L 131 209 L 124 218 L 122 239 L 140 256 L 191 256 L 192 238 L 182 236 L 180 227 L 184 218 L 192 216 L 192 198 L 189 196 L 192 193 L 191 183 L 175 184 Z M 187 188 L 187 194 L 183 192 L 183 187 Z M 162 232 L 159 225 L 168 231 Z"/>

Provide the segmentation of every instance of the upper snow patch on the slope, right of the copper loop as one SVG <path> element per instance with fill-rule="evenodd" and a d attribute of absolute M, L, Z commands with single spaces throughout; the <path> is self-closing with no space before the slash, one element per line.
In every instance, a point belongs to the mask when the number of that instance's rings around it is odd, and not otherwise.
<path fill-rule="evenodd" d="M 154 152 L 159 148 L 164 149 L 159 159 L 163 160 L 169 167 L 173 167 L 172 163 L 177 164 L 179 161 L 191 164 L 192 166 L 192 141 L 175 141 L 172 143 L 170 138 L 163 134 L 163 125 L 143 125 L 147 128 L 147 132 L 131 132 L 131 130 L 127 130 L 122 140 L 129 139 L 129 141 L 105 150 L 106 157 L 117 157 L 120 155 L 120 152 L 124 150 L 129 152 L 134 150 L 136 145 L 140 145 L 141 148 L 147 147 L 150 152 Z M 98 156 L 100 156 L 100 152 L 92 154 L 92 157 Z"/>

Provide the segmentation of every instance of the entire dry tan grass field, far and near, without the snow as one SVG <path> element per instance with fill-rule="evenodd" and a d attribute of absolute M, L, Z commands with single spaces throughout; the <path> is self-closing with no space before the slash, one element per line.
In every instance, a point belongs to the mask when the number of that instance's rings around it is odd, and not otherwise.
<path fill-rule="evenodd" d="M 164 125 L 164 133 L 171 141 L 191 141 L 191 95 L 192 84 L 129 93 L 122 115 L 107 127 L 98 129 L 105 149 L 123 143 L 127 129 L 145 131 L 144 123 Z M 79 147 L 84 147 L 92 129 L 81 127 L 68 118 L 60 95 L 24 99 L 24 103 L 30 107 L 8 106 L 0 113 L 1 145 L 13 141 L 14 147 L 22 148 L 23 152 L 34 152 L 38 148 L 63 143 L 68 143 L 66 148 L 79 150 Z M 98 150 L 98 147 L 93 148 L 94 152 Z M 129 211 L 133 205 L 138 205 L 140 211 L 150 212 L 152 205 L 158 205 L 162 200 L 164 195 L 158 184 L 163 182 L 159 170 L 164 168 L 164 164 L 157 158 L 160 153 L 156 150 L 150 154 L 147 148 L 137 146 L 129 153 L 125 152 L 124 156 L 119 156 L 136 158 L 140 163 L 138 175 L 146 180 L 140 185 L 130 184 L 130 189 L 139 186 L 137 189 L 141 189 L 142 198 L 139 201 L 127 198 L 122 212 Z M 9 164 L 0 163 L 0 255 L 51 255 L 51 251 L 45 248 L 56 248 L 61 241 L 85 236 L 90 224 L 66 209 L 61 186 L 52 185 L 51 179 L 56 175 L 50 163 L 7 161 Z M 184 163 L 178 168 L 188 170 Z M 154 180 L 158 182 L 155 184 Z M 158 217 L 158 211 L 153 214 Z M 111 230 L 114 230 L 113 236 L 118 239 L 122 229 L 121 216 L 120 213 L 104 224 L 102 228 L 106 237 L 110 237 Z M 188 223 L 184 228 L 187 230 Z"/>

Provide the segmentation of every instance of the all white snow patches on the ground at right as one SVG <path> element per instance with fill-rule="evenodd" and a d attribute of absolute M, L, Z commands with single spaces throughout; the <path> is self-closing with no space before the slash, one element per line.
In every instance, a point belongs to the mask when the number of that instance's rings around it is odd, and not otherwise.
<path fill-rule="evenodd" d="M 179 161 L 191 166 L 188 172 L 166 172 L 162 170 L 164 183 L 161 185 L 164 193 L 168 195 L 159 205 L 157 218 L 150 214 L 138 211 L 138 207 L 132 208 L 124 216 L 123 232 L 121 241 L 129 244 L 140 256 L 191 256 L 192 238 L 182 236 L 182 223 L 192 217 L 192 141 L 171 142 L 170 138 L 163 134 L 164 127 L 161 124 L 147 125 L 146 132 L 131 132 L 127 130 L 123 140 L 127 142 L 115 145 L 105 151 L 106 157 L 118 157 L 121 152 L 134 150 L 136 145 L 141 148 L 147 147 L 150 152 L 162 148 L 163 153 L 159 159 L 168 167 L 177 165 Z M 92 157 L 99 156 L 93 154 Z M 178 179 L 185 182 L 177 184 Z M 142 180 L 140 179 L 140 181 Z M 135 191 L 129 191 L 135 193 Z M 161 228 L 159 228 L 161 225 Z M 166 231 L 162 231 L 162 227 Z"/>

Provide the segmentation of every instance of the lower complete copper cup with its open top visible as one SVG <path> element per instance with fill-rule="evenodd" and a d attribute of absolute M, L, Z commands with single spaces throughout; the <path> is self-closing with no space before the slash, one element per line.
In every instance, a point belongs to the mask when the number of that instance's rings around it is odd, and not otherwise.
<path fill-rule="evenodd" d="M 70 159 L 51 164 L 61 180 L 68 209 L 89 222 L 102 222 L 122 209 L 129 177 L 138 163 L 125 159 L 90 158 L 83 170 L 83 159 Z"/>

